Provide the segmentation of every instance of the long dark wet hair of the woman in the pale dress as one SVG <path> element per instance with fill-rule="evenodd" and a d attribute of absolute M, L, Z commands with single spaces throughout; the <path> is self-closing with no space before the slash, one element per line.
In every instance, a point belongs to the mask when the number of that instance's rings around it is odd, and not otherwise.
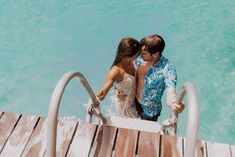
<path fill-rule="evenodd" d="M 111 68 L 118 64 L 124 57 L 133 57 L 140 50 L 140 43 L 138 40 L 130 37 L 123 38 L 118 45 L 116 57 Z"/>

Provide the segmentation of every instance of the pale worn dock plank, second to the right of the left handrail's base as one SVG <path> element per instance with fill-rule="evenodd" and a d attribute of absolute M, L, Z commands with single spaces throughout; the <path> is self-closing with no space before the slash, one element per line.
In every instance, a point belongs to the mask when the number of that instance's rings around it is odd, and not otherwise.
<path fill-rule="evenodd" d="M 95 136 L 97 125 L 79 124 L 69 147 L 67 157 L 87 157 Z"/>

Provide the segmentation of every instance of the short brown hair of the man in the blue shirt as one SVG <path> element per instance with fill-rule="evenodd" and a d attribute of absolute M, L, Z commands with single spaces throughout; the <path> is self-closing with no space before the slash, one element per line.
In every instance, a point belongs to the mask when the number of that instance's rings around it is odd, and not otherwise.
<path fill-rule="evenodd" d="M 153 34 L 141 39 L 140 45 L 141 47 L 145 45 L 151 55 L 156 52 L 161 55 L 165 48 L 165 41 L 160 35 Z"/>

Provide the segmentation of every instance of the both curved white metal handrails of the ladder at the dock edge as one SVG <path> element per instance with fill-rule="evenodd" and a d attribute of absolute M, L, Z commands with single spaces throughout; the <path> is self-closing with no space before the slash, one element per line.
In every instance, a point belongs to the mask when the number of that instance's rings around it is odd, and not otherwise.
<path fill-rule="evenodd" d="M 47 157 L 56 156 L 56 136 L 59 106 L 67 84 L 74 77 L 79 78 L 80 82 L 82 83 L 89 97 L 91 98 L 92 104 L 98 101 L 88 81 L 82 73 L 70 71 L 61 77 L 53 91 L 48 109 Z M 177 97 L 178 102 L 181 102 L 183 100 L 186 93 L 188 94 L 188 121 L 186 129 L 185 157 L 193 157 L 195 153 L 195 146 L 198 133 L 198 99 L 193 85 L 191 83 L 186 83 L 180 89 L 180 92 Z M 97 116 L 103 122 L 103 124 L 105 124 L 105 117 L 99 110 L 96 110 L 92 104 L 89 109 L 90 113 L 95 111 Z M 92 114 L 89 114 L 87 117 L 87 122 L 91 122 L 91 119 Z"/>

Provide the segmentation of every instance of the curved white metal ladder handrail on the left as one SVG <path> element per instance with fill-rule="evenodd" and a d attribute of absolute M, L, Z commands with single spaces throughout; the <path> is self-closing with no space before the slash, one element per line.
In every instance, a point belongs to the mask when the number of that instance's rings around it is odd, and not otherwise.
<path fill-rule="evenodd" d="M 80 82 L 85 87 L 91 101 L 94 103 L 97 100 L 94 92 L 92 91 L 89 83 L 86 78 L 80 72 L 70 71 L 67 72 L 62 78 L 58 81 L 53 94 L 51 96 L 49 109 L 48 109 L 48 126 L 47 126 L 47 156 L 55 157 L 56 156 L 56 136 L 57 136 L 57 118 L 58 111 L 61 102 L 61 98 L 63 96 L 65 87 L 69 83 L 69 81 L 77 77 L 80 79 Z"/>

